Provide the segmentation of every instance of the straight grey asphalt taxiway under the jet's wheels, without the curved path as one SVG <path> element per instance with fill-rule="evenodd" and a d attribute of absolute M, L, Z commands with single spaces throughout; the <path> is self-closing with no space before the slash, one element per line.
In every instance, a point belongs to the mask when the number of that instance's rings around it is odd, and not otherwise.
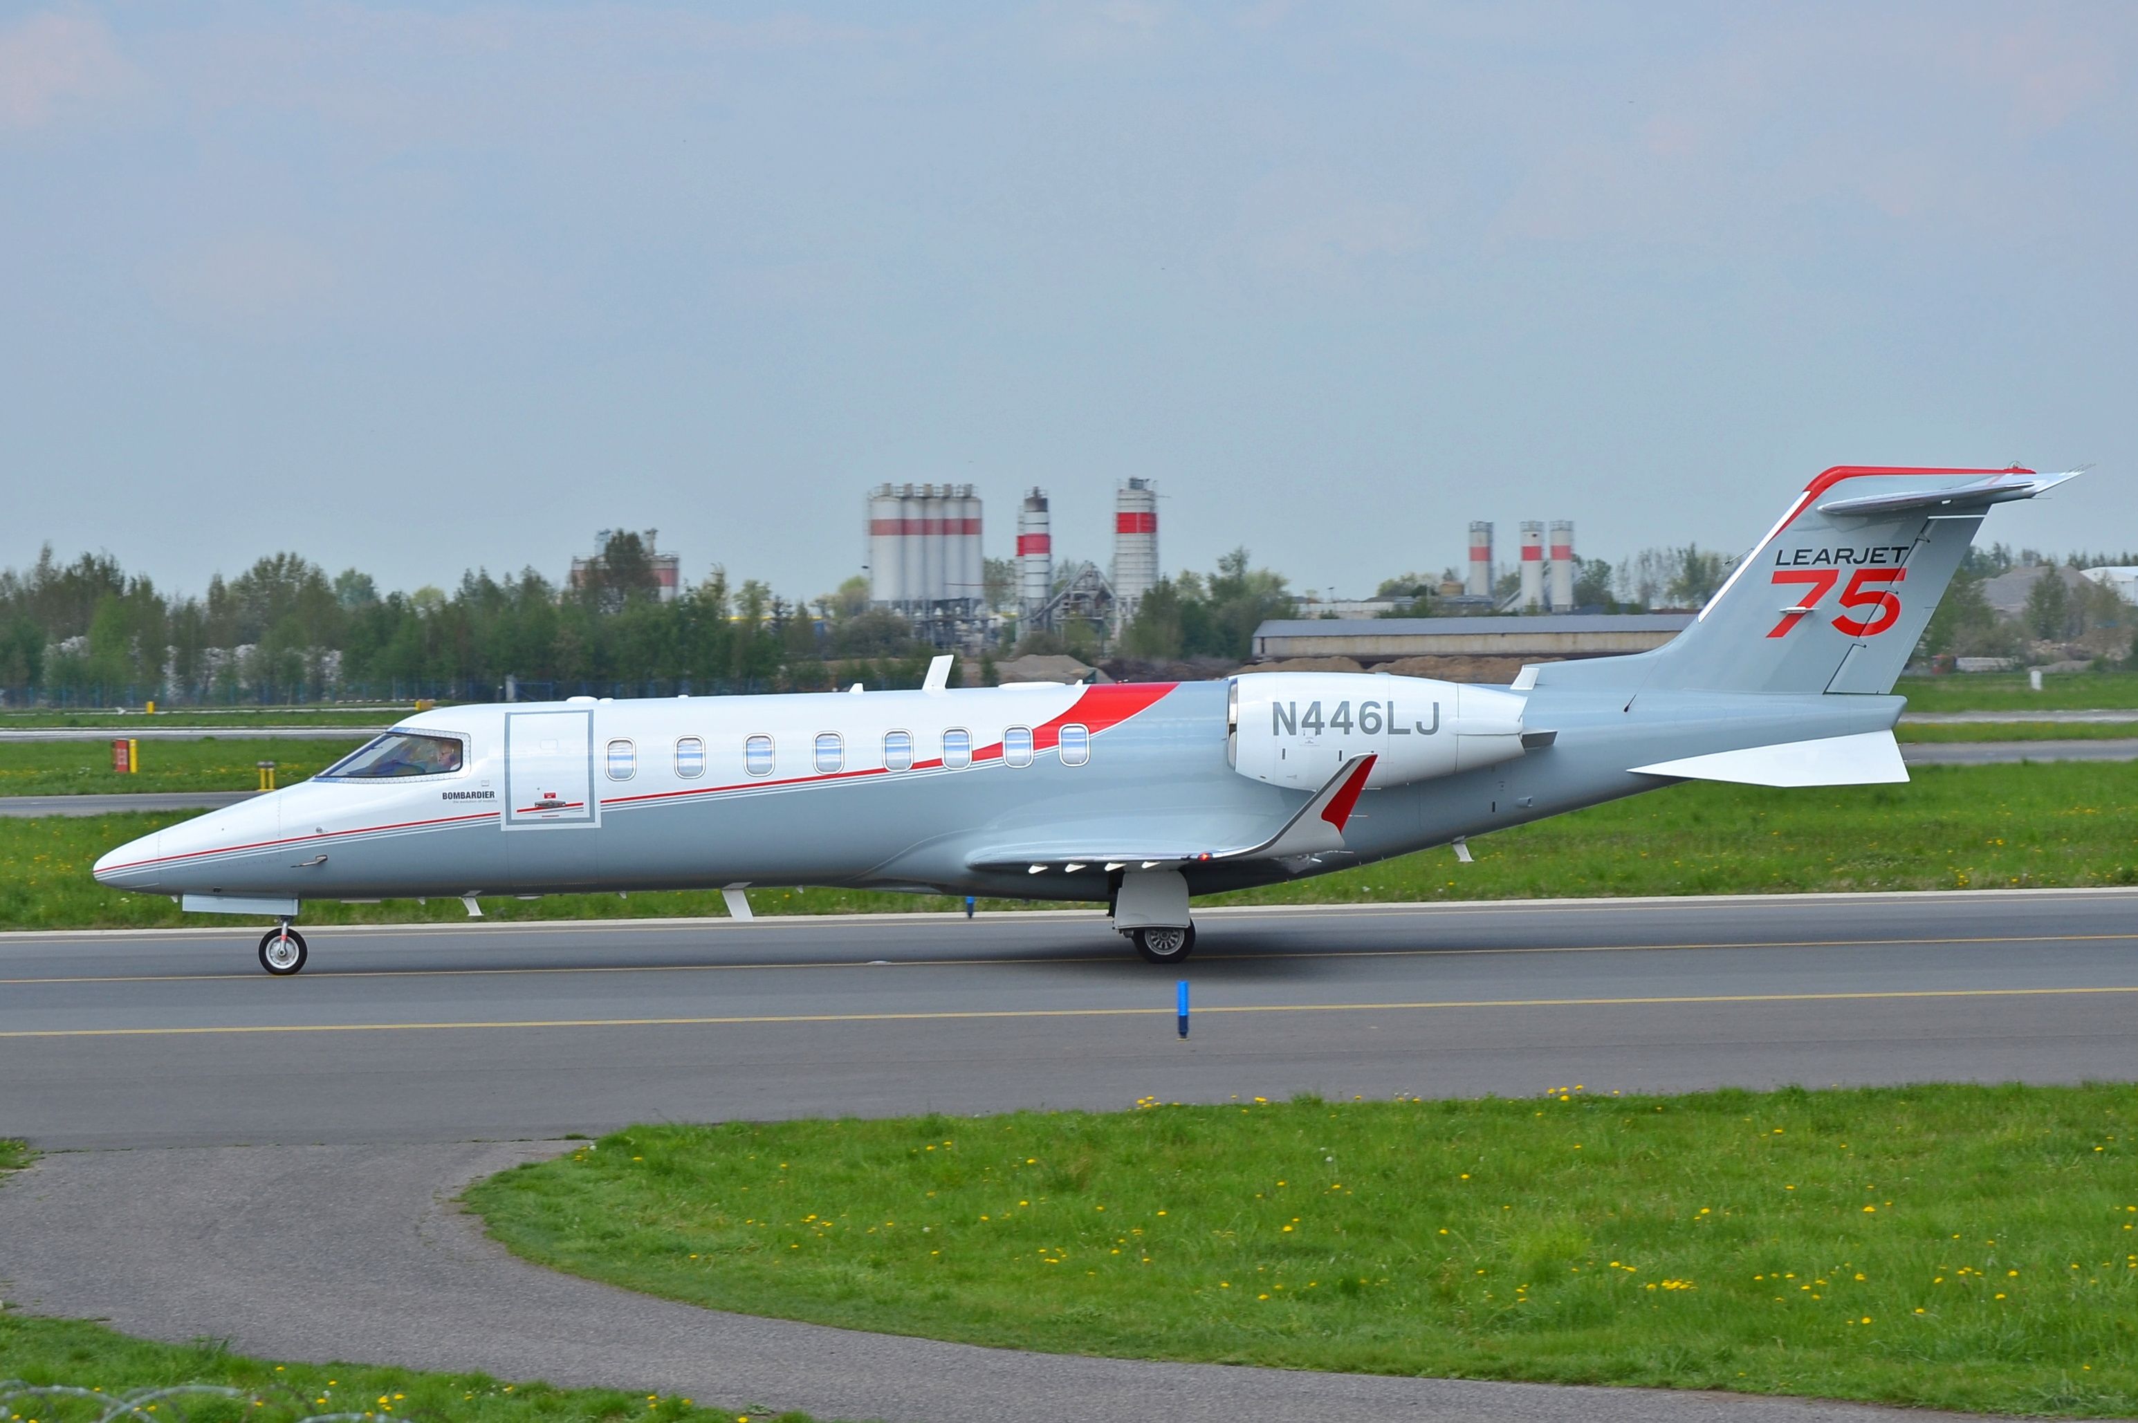
<path fill-rule="evenodd" d="M 0 1132 L 417 1143 L 644 1120 L 1524 1094 L 2138 1064 L 2138 893 L 0 936 Z M 1193 1030 L 1174 1032 L 1174 983 Z"/>

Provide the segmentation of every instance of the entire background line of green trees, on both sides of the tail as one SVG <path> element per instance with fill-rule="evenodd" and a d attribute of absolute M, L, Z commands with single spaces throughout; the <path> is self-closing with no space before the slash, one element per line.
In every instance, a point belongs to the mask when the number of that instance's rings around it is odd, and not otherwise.
<path fill-rule="evenodd" d="M 712 694 L 823 690 L 847 682 L 919 686 L 936 652 L 887 609 L 870 607 L 866 579 L 815 600 L 774 594 L 757 579 L 729 585 L 714 568 L 663 600 L 650 538 L 611 534 L 584 577 L 556 583 L 532 568 L 494 577 L 468 570 L 451 590 L 378 592 L 344 568 L 329 575 L 297 553 L 214 577 L 205 594 L 173 596 L 105 553 L 60 562 L 47 547 L 24 570 L 0 570 L 0 699 L 11 705 L 293 703 L 413 697 Z M 1576 603 L 1608 611 L 1698 607 L 1734 560 L 1687 545 L 1646 549 L 1618 564 L 1582 560 Z M 2132 566 L 2129 553 L 2050 560 L 2005 545 L 1971 549 L 1922 639 L 1922 654 L 2040 658 L 2048 645 L 2123 660 L 2138 613 L 2108 585 L 2055 568 Z M 1997 613 L 1982 585 L 2038 566 L 2027 605 Z M 1381 596 L 1396 615 L 1443 611 L 1443 579 L 1398 575 Z M 1407 603 L 1403 603 L 1407 598 Z M 988 603 L 1003 613 L 1001 654 L 1069 652 L 1084 660 L 1244 662 L 1264 620 L 1298 615 L 1287 579 L 1257 568 L 1246 549 L 1210 573 L 1178 573 L 1150 588 L 1118 635 L 1069 624 L 1018 637 L 1016 568 L 988 560 Z M 994 675 L 994 654 L 975 662 Z"/>

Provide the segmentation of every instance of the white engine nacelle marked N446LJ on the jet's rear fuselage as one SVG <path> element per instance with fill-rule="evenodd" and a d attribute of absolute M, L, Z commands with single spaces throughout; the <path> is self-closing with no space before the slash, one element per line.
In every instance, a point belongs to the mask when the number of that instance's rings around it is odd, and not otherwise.
<path fill-rule="evenodd" d="M 1231 679 L 1225 752 L 1240 776 L 1319 791 L 1379 756 L 1368 786 L 1405 786 L 1522 754 L 1527 699 L 1486 686 L 1358 673 Z"/>

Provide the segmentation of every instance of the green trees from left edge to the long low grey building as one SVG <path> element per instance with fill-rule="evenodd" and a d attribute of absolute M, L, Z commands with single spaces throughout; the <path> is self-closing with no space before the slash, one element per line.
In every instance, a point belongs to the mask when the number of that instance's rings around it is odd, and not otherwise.
<path fill-rule="evenodd" d="M 451 590 L 381 592 L 357 568 L 329 575 L 297 553 L 169 594 L 107 553 L 0 570 L 0 699 L 11 705 L 295 703 L 415 697 L 665 697 L 676 692 L 827 690 L 849 682 L 919 686 L 936 647 L 894 611 L 870 607 L 866 579 L 815 600 L 783 598 L 714 568 L 663 600 L 652 543 L 618 532 L 582 577 L 532 568 L 468 570 Z M 1013 564 L 988 560 L 990 603 L 1013 611 Z M 1291 611 L 1283 577 L 1246 551 L 1208 579 L 1180 575 L 1152 605 L 1184 639 L 1137 645 L 1244 660 L 1261 615 Z M 1013 622 L 1005 624 L 1013 635 Z M 1157 624 L 1150 624 L 1157 626 Z M 1131 628 L 1133 630 L 1133 628 Z M 1099 628 L 1011 639 L 1003 656 L 1118 652 Z M 1159 652 L 1155 656 L 1180 656 Z M 994 652 L 975 660 L 992 679 Z"/>

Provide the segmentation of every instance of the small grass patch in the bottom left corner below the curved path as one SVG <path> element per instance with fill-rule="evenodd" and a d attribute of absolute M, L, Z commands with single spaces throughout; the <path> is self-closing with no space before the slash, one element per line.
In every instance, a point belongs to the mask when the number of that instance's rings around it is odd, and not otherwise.
<path fill-rule="evenodd" d="M 498 1382 L 487 1374 L 425 1374 L 361 1363 L 267 1363 L 235 1355 L 214 1340 L 154 1344 L 71 1318 L 26 1318 L 0 1312 L 0 1402 L 13 1385 L 98 1389 L 105 1399 L 15 1397 L 9 1417 L 41 1423 L 96 1419 L 111 1395 L 171 1385 L 239 1389 L 246 1397 L 165 1399 L 162 1417 L 188 1423 L 289 1423 L 319 1412 L 391 1419 L 455 1419 L 468 1423 L 733 1423 L 738 1414 L 686 1397 L 620 1389 L 552 1389 L 543 1382 Z M 261 1399 L 254 1406 L 252 1399 Z M 156 1414 L 141 1414 L 156 1417 Z M 746 1417 L 765 1417 L 750 1408 Z M 776 1414 L 806 1423 L 804 1414 Z"/>

